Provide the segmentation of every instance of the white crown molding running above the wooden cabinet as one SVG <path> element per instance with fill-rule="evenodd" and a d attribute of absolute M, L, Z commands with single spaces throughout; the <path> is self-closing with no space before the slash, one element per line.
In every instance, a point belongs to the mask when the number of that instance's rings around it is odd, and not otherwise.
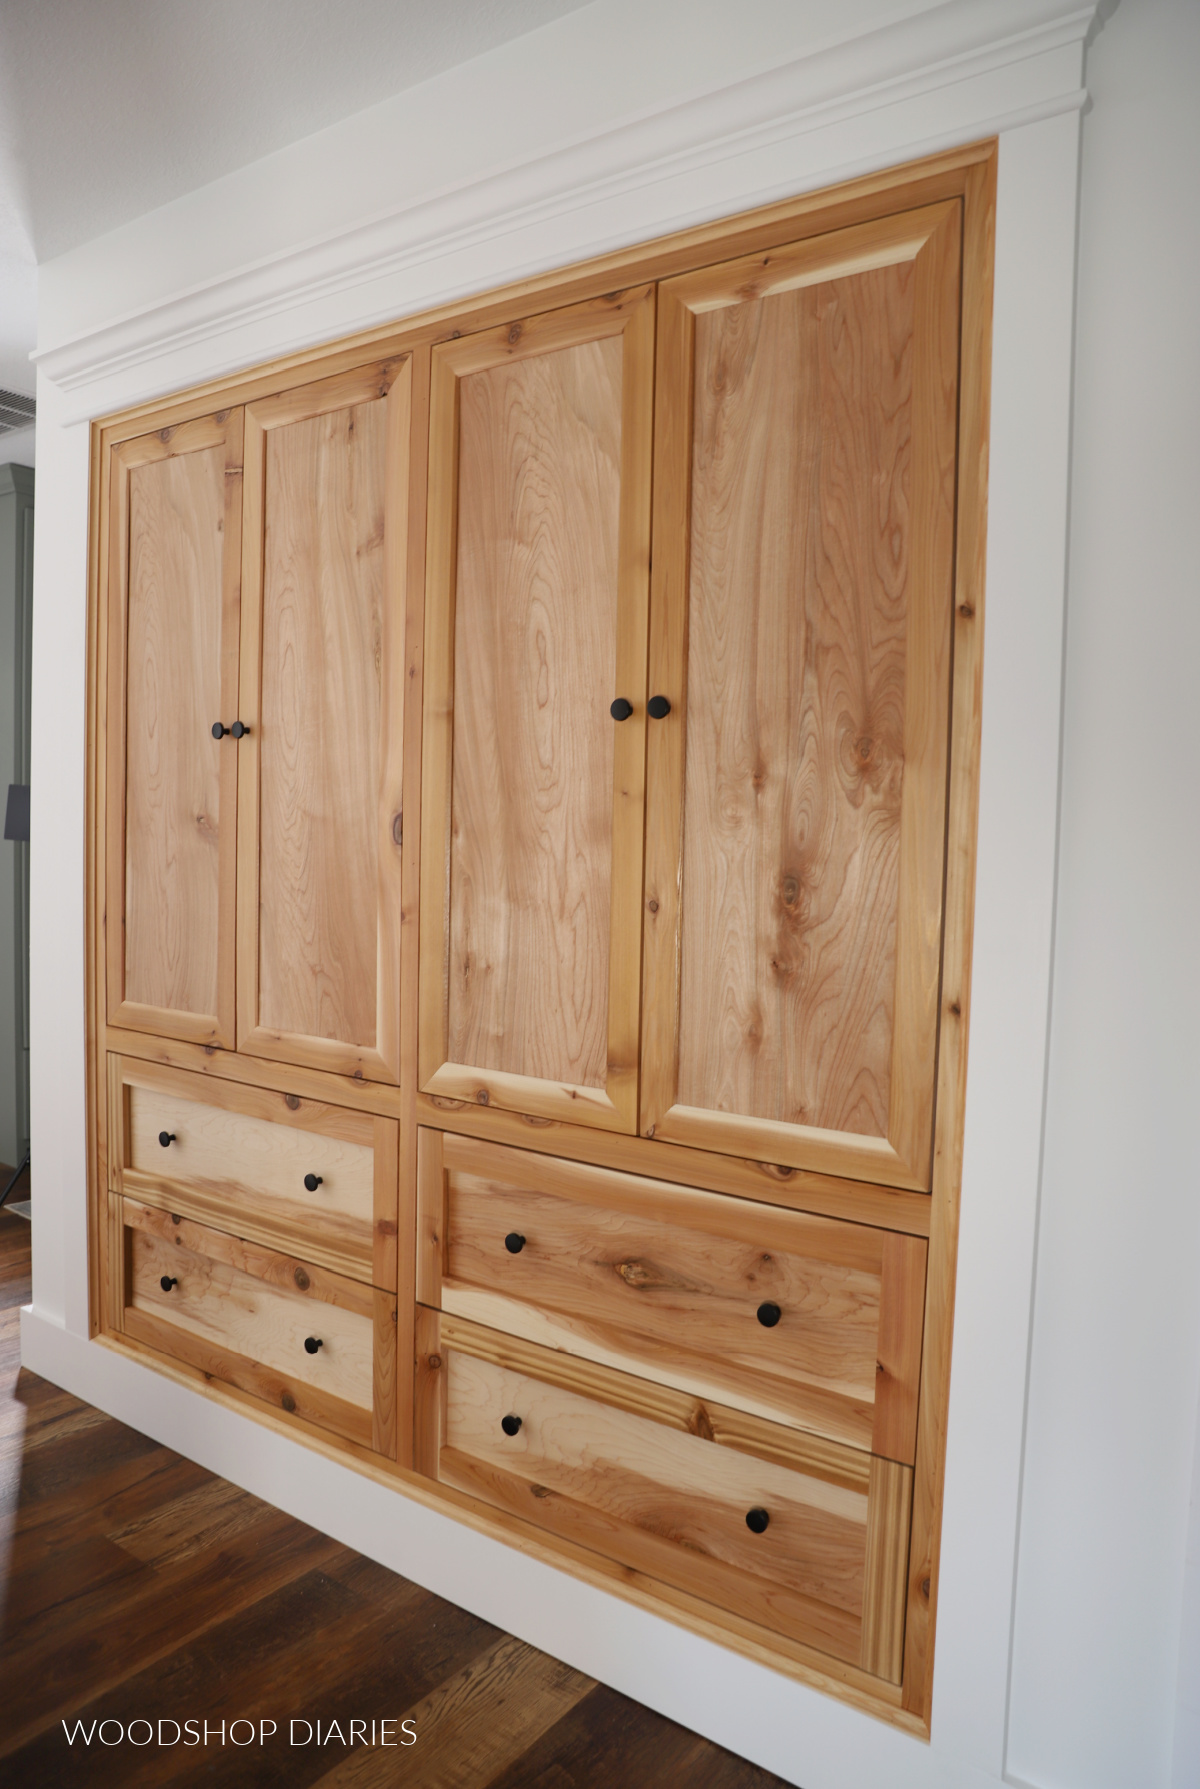
<path fill-rule="evenodd" d="M 477 179 L 231 268 L 41 347 L 30 358 L 39 374 L 61 390 L 80 394 L 70 406 L 72 417 L 64 417 L 79 420 L 179 383 L 177 372 L 156 379 L 150 370 L 154 361 L 266 318 L 302 313 L 338 293 L 363 288 L 363 304 L 340 306 L 333 331 L 318 322 L 304 326 L 300 317 L 293 318 L 295 327 L 275 324 L 274 352 L 308 345 L 329 333 L 372 327 L 406 309 L 553 267 L 553 250 L 549 259 L 544 250 L 535 250 L 531 258 L 529 233 L 538 231 L 544 243 L 545 225 L 562 225 L 572 213 L 612 209 L 619 200 L 626 200 L 628 213 L 635 197 L 663 190 L 667 202 L 658 209 L 665 211 L 667 222 L 638 225 L 633 234 L 628 229 L 612 234 L 612 225 L 610 233 L 592 231 L 581 250 L 592 254 L 655 234 L 656 227 L 685 227 L 721 216 L 731 209 L 728 202 L 714 206 L 699 199 L 680 209 L 680 188 L 714 191 L 717 182 L 712 175 L 721 165 L 740 161 L 749 166 L 764 150 L 774 150 L 778 165 L 778 150 L 790 147 L 785 161 L 792 172 L 782 188 L 776 182 L 746 190 L 744 197 L 739 195 L 742 206 L 1078 109 L 1086 102 L 1086 89 L 1078 84 L 1082 45 L 1094 11 L 1094 4 L 1064 5 L 1062 0 L 1028 0 L 1021 7 L 1014 7 L 1012 0 L 948 0 L 932 11 L 826 45 L 785 66 L 674 100 L 574 141 L 558 141 L 535 157 L 488 168 Z M 1014 13 L 1023 14 L 1023 29 L 1001 29 L 1010 27 Z M 1075 55 L 1061 54 L 1071 50 Z M 941 113 L 935 122 L 930 106 L 921 104 L 928 100 L 935 102 L 934 113 Z M 871 150 L 864 143 L 851 161 L 830 161 L 828 154 L 821 154 L 821 140 L 842 141 L 848 125 L 867 123 L 871 114 L 889 111 L 908 120 L 908 134 L 903 123 L 900 131 L 896 125 L 883 129 L 885 147 Z M 878 140 L 880 131 L 858 134 Z M 646 216 L 646 204 L 637 209 Z M 655 209 L 651 204 L 649 211 Z M 504 240 L 511 243 L 510 252 L 503 249 Z M 488 245 L 492 252 L 485 256 L 483 277 L 463 283 L 461 274 L 454 277 L 449 268 L 445 279 L 442 263 Z M 426 270 L 426 277 L 413 281 L 418 268 Z M 395 308 L 397 279 L 404 288 L 401 309 Z M 381 281 L 392 290 L 381 293 Z M 232 354 L 206 356 L 204 372 L 193 369 L 191 377 L 254 358 L 254 351 L 236 349 Z M 122 376 L 136 369 L 141 377 L 134 381 L 134 392 L 129 377 Z"/>

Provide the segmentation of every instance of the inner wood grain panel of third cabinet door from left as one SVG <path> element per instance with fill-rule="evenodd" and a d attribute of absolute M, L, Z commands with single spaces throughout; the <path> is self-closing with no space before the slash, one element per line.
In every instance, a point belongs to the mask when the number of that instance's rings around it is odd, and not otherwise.
<path fill-rule="evenodd" d="M 608 336 L 460 381 L 449 1052 L 592 1088 L 608 1066 L 621 361 Z"/>

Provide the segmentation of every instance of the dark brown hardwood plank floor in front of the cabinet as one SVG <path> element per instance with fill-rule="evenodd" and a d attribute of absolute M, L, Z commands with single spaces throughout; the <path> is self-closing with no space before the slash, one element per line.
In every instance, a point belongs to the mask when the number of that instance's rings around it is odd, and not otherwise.
<path fill-rule="evenodd" d="M 780 1784 L 20 1370 L 29 1238 L 0 1211 L 4 1789 Z M 417 1742 L 317 1744 L 383 1717 Z"/>

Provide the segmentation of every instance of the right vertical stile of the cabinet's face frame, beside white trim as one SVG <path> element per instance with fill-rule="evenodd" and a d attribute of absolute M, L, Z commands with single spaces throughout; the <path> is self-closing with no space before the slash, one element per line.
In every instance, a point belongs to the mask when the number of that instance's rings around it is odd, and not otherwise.
<path fill-rule="evenodd" d="M 971 1014 L 975 850 L 984 698 L 984 594 L 987 565 L 987 449 L 991 426 L 993 261 L 996 154 L 966 170 L 962 254 L 962 395 L 955 537 L 955 680 L 946 821 L 946 932 L 928 1293 L 921 1361 L 917 1469 L 912 1496 L 903 1707 L 928 1726 L 934 1705 L 934 1626 L 941 1549 L 950 1349 L 959 1259 L 962 1122 Z"/>

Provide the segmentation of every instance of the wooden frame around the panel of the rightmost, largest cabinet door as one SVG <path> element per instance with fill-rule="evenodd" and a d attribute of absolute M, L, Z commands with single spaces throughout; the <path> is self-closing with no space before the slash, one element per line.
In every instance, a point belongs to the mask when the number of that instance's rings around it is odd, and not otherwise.
<path fill-rule="evenodd" d="M 692 404 L 696 317 L 914 263 L 912 546 L 905 621 L 894 1013 L 887 1136 L 678 1102 L 685 964 Z M 928 1191 L 937 1070 L 953 617 L 960 206 L 955 200 L 665 281 L 658 293 L 651 682 L 672 705 L 647 742 L 640 1131 L 699 1149 Z"/>

